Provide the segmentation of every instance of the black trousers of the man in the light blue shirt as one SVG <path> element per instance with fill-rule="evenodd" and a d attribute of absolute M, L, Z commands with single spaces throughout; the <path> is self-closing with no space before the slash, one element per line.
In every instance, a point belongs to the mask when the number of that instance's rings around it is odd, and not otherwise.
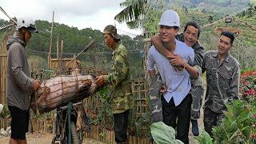
<path fill-rule="evenodd" d="M 170 102 L 166 102 L 165 98 L 162 99 L 162 115 L 163 122 L 167 126 L 172 126 L 177 130 L 177 139 L 181 140 L 185 144 L 189 143 L 189 130 L 190 130 L 190 109 L 192 97 L 191 94 L 187 94 L 182 103 L 178 106 L 174 104 L 174 98 L 170 99 Z"/>

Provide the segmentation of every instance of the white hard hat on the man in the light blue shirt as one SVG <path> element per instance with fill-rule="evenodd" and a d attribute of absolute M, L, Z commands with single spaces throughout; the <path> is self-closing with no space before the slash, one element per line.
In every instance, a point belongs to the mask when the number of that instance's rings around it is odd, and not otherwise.
<path fill-rule="evenodd" d="M 178 26 L 180 27 L 179 16 L 174 10 L 166 10 L 161 18 L 158 25 L 162 26 Z"/>

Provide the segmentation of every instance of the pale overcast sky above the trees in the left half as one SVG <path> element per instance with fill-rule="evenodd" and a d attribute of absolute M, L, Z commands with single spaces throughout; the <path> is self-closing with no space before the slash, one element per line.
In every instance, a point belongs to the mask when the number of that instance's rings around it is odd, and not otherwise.
<path fill-rule="evenodd" d="M 1 0 L 0 6 L 10 17 L 30 17 L 78 27 L 82 30 L 87 27 L 103 31 L 106 25 L 116 25 L 118 34 L 123 31 L 132 34 L 141 34 L 142 30 L 130 30 L 125 23 L 114 21 L 114 16 L 123 8 L 120 3 L 125 0 Z M 0 18 L 9 20 L 0 11 Z"/>

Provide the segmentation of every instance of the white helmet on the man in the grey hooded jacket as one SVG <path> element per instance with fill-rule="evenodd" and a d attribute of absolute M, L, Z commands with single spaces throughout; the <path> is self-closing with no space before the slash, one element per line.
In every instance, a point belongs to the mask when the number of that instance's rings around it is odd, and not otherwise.
<path fill-rule="evenodd" d="M 26 27 L 31 33 L 38 33 L 34 20 L 30 18 L 18 18 L 17 29 Z"/>

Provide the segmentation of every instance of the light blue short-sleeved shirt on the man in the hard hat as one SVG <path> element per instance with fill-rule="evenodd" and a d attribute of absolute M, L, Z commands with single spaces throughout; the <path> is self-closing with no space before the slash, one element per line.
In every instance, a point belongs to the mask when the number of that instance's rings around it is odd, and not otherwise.
<path fill-rule="evenodd" d="M 194 50 L 186 46 L 184 42 L 176 40 L 174 54 L 181 56 L 190 66 L 193 65 Z M 171 66 L 168 58 L 160 54 L 154 46 L 151 46 L 147 55 L 147 69 L 154 70 L 155 65 L 158 67 L 162 82 L 167 86 L 167 92 L 163 94 L 166 102 L 170 102 L 170 99 L 174 98 L 175 106 L 178 106 L 190 92 L 190 74 L 186 70 L 174 70 L 174 66 Z"/>

